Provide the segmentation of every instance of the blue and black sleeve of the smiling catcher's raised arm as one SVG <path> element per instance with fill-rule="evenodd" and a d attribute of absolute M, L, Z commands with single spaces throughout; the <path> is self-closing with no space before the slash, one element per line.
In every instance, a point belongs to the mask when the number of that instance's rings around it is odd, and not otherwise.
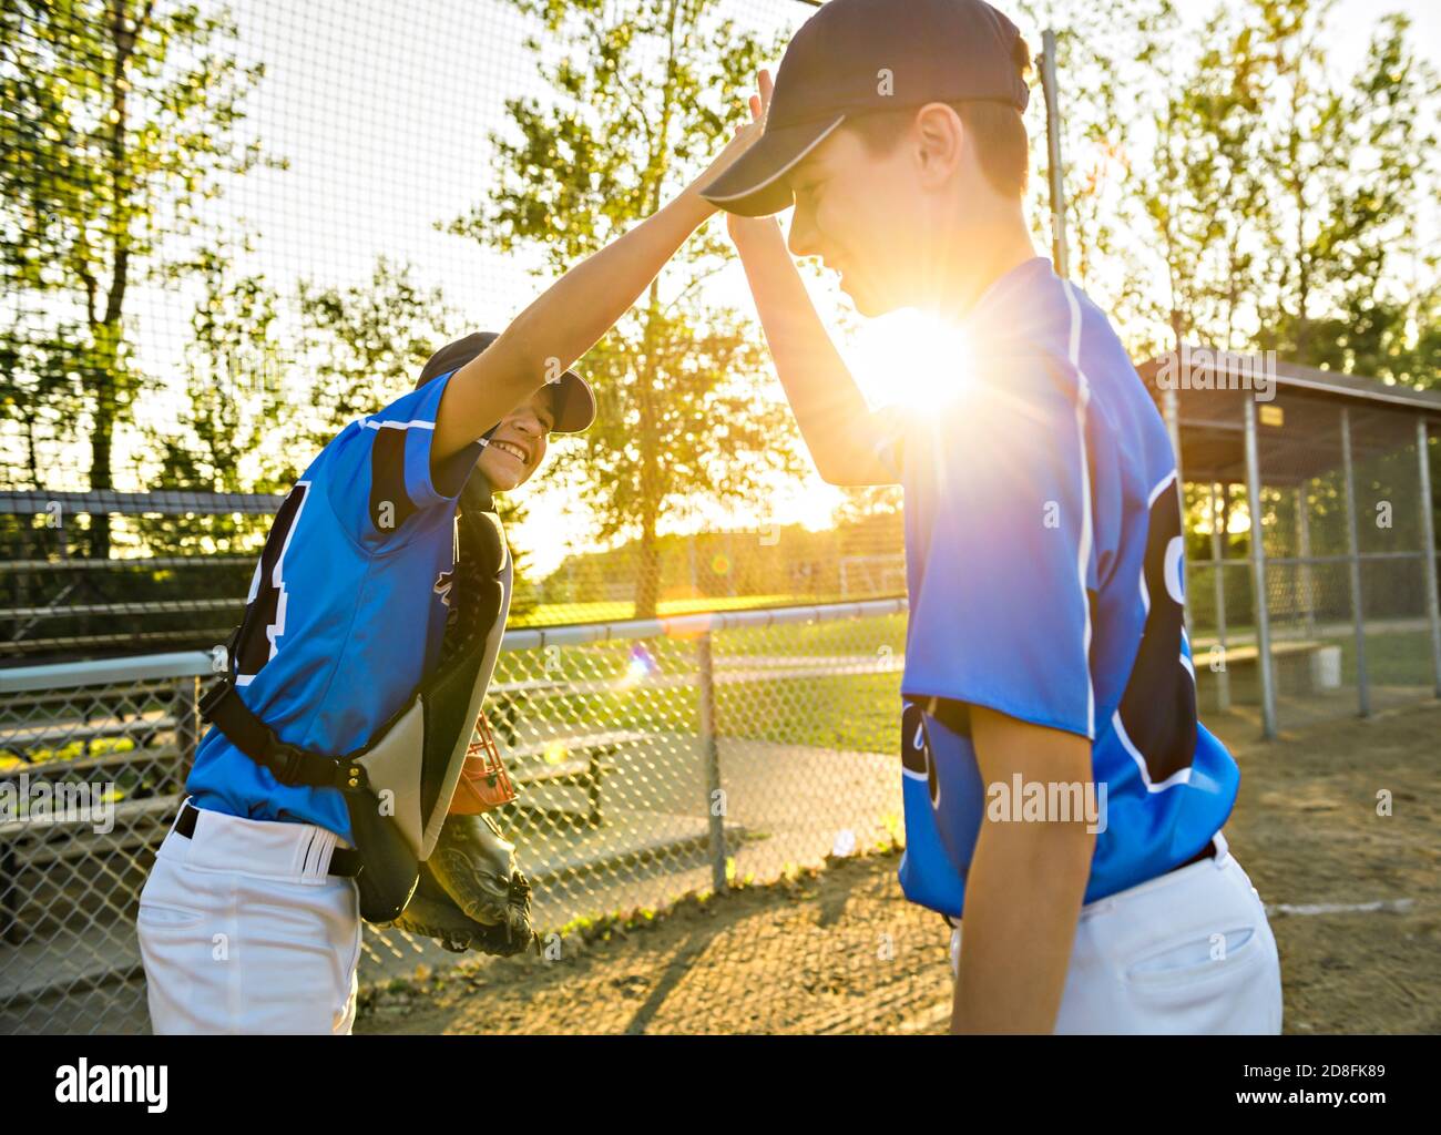
<path fill-rule="evenodd" d="M 360 546 L 383 550 L 405 540 L 415 530 L 412 517 L 452 507 L 465 487 L 480 442 L 448 458 L 438 480 L 431 477 L 435 412 L 450 377 L 432 379 L 352 422 L 311 464 L 311 481 L 324 485 L 342 527 Z"/>

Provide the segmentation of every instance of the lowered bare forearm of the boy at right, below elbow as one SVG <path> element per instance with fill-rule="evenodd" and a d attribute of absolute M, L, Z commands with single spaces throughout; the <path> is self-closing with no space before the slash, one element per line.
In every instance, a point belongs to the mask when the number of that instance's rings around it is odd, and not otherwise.
<path fill-rule="evenodd" d="M 965 873 L 953 1033 L 1050 1033 L 1095 837 L 1081 824 L 984 822 Z"/>

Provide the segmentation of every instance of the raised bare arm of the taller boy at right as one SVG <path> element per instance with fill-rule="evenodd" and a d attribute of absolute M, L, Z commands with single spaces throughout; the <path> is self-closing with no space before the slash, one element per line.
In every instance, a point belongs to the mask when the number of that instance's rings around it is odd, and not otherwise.
<path fill-rule="evenodd" d="M 736 248 L 775 372 L 821 478 L 833 485 L 896 484 L 901 470 L 888 459 L 888 419 L 866 405 L 830 341 L 781 226 L 774 217 L 751 222 Z"/>

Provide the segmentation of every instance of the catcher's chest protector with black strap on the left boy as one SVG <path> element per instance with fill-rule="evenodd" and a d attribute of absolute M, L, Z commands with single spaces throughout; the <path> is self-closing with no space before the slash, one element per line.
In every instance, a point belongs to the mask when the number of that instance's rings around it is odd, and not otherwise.
<path fill-rule="evenodd" d="M 229 671 L 200 701 L 200 717 L 281 784 L 346 794 L 363 863 L 356 876 L 360 916 L 367 922 L 393 922 L 415 892 L 419 863 L 440 838 L 500 654 L 513 568 L 488 494 L 486 506 L 467 504 L 457 517 L 460 552 L 440 663 L 359 749 L 329 755 L 290 745 L 241 700 L 235 647 L 245 622 L 231 635 Z"/>

